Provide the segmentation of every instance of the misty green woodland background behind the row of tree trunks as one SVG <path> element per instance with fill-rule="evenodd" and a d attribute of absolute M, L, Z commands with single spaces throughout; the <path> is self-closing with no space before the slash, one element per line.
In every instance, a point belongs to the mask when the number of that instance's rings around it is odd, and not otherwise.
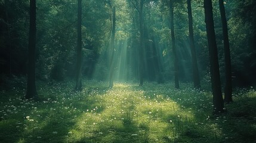
<path fill-rule="evenodd" d="M 135 1 L 134 1 L 135 2 Z M 82 1 L 82 77 L 109 80 L 112 7 L 116 7 L 114 81 L 137 82 L 140 21 L 132 1 Z M 221 83 L 224 51 L 218 1 L 212 1 Z M 224 1 L 229 29 L 233 88 L 256 81 L 256 2 Z M 36 80 L 75 77 L 77 1 L 36 1 Z M 144 1 L 144 80 L 174 80 L 168 1 Z M 203 1 L 192 1 L 193 30 L 201 85 L 209 87 L 209 58 Z M 192 82 L 186 1 L 174 1 L 174 30 L 181 82 Z M 0 1 L 0 84 L 26 84 L 29 1 Z M 121 63 L 121 64 L 120 64 Z"/>

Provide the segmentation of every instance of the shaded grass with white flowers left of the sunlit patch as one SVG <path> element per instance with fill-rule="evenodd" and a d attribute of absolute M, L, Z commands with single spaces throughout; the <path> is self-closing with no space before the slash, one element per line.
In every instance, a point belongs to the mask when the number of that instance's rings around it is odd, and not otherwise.
<path fill-rule="evenodd" d="M 70 83 L 51 83 L 39 85 L 38 101 L 26 101 L 24 93 L 16 91 L 15 95 L 1 99 L 6 104 L 1 117 L 6 111 L 10 115 L 1 118 L 0 142 L 63 142 L 76 124 L 76 117 L 97 107 L 98 101 L 92 97 L 104 92 L 107 92 L 105 87 L 88 86 L 82 92 L 74 92 Z M 17 110 L 17 114 L 8 108 Z M 94 112 L 102 110 L 103 107 Z"/>

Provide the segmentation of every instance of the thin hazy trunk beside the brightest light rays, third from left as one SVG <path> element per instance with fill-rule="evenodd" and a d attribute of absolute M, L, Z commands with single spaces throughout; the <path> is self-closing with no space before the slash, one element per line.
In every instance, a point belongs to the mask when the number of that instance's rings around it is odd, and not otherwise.
<path fill-rule="evenodd" d="M 113 71 L 114 71 L 114 49 L 115 49 L 115 33 L 116 33 L 116 7 L 113 7 L 113 21 L 112 21 L 112 54 L 110 59 L 110 73 L 109 73 L 109 88 L 113 88 Z"/>

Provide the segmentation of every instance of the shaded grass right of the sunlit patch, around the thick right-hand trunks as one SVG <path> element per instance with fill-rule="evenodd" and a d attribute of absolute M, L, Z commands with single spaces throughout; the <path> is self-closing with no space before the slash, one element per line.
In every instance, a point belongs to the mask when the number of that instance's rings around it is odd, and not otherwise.
<path fill-rule="evenodd" d="M 149 89 L 150 86 L 150 90 Z M 159 86 L 150 83 L 144 87 L 135 86 L 135 90 L 142 90 L 149 101 L 154 101 L 159 94 Z M 168 88 L 168 87 L 167 87 Z M 174 120 L 174 142 L 256 142 L 256 95 L 253 91 L 243 91 L 237 101 L 227 104 L 227 113 L 212 116 L 211 92 L 195 91 L 193 89 L 165 89 L 160 93 L 177 103 L 180 123 Z M 249 97 L 248 97 L 249 96 Z M 165 117 L 175 119 L 175 114 L 165 113 Z M 187 117 L 190 112 L 193 117 Z M 185 115 L 185 116 L 184 116 Z M 189 120 L 189 121 L 188 121 Z M 173 122 L 173 120 L 172 120 Z M 168 127 L 169 128 L 169 127 Z M 166 128 L 166 130 L 168 130 Z"/>

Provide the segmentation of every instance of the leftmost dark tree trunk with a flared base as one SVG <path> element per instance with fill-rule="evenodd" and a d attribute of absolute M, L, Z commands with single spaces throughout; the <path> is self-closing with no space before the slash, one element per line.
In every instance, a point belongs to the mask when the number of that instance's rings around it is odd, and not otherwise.
<path fill-rule="evenodd" d="M 27 71 L 27 94 L 26 98 L 34 98 L 36 92 L 35 83 L 35 50 L 36 50 L 36 0 L 30 0 L 30 21 L 29 21 L 29 64 Z"/>

